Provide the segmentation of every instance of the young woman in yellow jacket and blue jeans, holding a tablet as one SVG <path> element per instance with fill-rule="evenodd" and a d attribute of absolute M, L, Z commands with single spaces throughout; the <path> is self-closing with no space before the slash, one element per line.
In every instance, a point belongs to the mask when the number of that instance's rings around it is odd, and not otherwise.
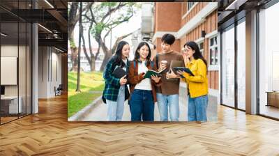
<path fill-rule="evenodd" d="M 188 88 L 188 121 L 206 121 L 206 108 L 208 104 L 208 79 L 207 63 L 196 42 L 186 42 L 184 45 L 183 59 L 185 66 L 193 72 L 178 71 L 186 81 Z"/>

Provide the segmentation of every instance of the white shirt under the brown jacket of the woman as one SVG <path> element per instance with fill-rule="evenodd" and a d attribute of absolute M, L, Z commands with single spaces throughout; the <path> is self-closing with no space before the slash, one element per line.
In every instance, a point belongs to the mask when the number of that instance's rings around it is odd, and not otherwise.
<path fill-rule="evenodd" d="M 144 72 L 146 73 L 148 70 L 148 68 L 145 65 L 145 61 L 142 61 L 142 63 L 138 64 L 137 67 L 137 73 L 140 75 L 140 73 Z M 142 81 L 140 81 L 139 84 L 135 85 L 135 89 L 141 89 L 141 90 L 147 90 L 147 91 L 151 91 L 152 87 L 151 87 L 151 79 L 146 78 L 146 79 L 142 79 Z"/>

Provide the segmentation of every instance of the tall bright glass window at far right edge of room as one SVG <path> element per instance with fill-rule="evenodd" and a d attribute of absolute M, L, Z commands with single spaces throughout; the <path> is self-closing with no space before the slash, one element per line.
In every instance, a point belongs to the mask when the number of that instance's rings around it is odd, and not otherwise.
<path fill-rule="evenodd" d="M 279 3 L 259 12 L 259 114 L 279 119 Z"/>

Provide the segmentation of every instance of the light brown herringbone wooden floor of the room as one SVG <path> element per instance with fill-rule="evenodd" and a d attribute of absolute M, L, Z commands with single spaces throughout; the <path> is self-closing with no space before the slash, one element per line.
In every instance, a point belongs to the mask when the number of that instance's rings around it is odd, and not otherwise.
<path fill-rule="evenodd" d="M 67 97 L 0 126 L 0 155 L 279 155 L 279 122 L 218 107 L 216 123 L 68 123 Z"/>

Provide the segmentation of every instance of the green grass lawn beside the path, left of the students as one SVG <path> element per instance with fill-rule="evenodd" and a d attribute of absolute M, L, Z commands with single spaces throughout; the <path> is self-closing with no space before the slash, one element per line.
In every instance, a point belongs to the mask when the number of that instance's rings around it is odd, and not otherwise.
<path fill-rule="evenodd" d="M 77 88 L 77 72 L 68 72 L 68 117 L 73 116 L 103 93 L 103 72 L 81 72 L 80 90 Z"/>

